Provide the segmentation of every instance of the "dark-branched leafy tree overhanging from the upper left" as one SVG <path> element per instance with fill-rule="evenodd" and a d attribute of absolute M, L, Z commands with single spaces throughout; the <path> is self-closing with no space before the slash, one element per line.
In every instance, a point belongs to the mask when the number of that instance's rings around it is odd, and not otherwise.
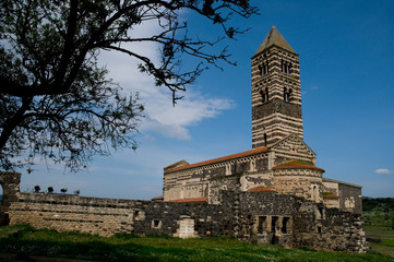
<path fill-rule="evenodd" d="M 223 28 L 210 41 L 189 36 L 182 12 L 190 11 Z M 27 166 L 37 155 L 71 170 L 94 155 L 133 147 L 143 106 L 138 94 L 124 94 L 97 64 L 100 50 L 126 53 L 157 86 L 186 91 L 207 64 L 228 60 L 226 48 L 206 50 L 243 33 L 228 26 L 234 14 L 258 10 L 249 0 L 2 0 L 0 3 L 0 168 Z M 160 32 L 136 36 L 133 29 L 156 21 Z M 156 43 L 159 61 L 128 45 Z M 182 58 L 196 58 L 183 71 Z M 26 157 L 22 157 L 26 156 Z"/>

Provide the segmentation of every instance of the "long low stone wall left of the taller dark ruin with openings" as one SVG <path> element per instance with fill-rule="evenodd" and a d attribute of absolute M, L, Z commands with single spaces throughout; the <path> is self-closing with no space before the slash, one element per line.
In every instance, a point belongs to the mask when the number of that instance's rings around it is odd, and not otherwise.
<path fill-rule="evenodd" d="M 31 224 L 58 231 L 111 236 L 177 234 L 179 223 L 192 218 L 199 236 L 232 236 L 227 209 L 204 203 L 171 203 L 83 198 L 69 194 L 20 193 L 9 210 L 10 225 Z M 223 222 L 223 223 L 218 223 Z"/>

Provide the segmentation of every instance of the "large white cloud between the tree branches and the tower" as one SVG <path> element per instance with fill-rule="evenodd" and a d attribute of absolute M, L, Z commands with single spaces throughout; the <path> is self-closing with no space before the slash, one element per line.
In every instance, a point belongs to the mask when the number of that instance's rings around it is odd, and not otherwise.
<path fill-rule="evenodd" d="M 146 24 L 144 35 L 157 33 L 155 24 Z M 135 33 L 135 32 L 134 32 Z M 153 43 L 128 45 L 136 53 L 143 53 L 158 60 L 157 46 Z M 164 86 L 155 86 L 151 76 L 141 73 L 136 66 L 140 61 L 123 53 L 103 51 L 100 62 L 106 64 L 109 75 L 120 83 L 126 91 L 139 92 L 145 105 L 145 118 L 141 131 L 155 131 L 168 138 L 190 139 L 188 128 L 206 118 L 214 118 L 223 110 L 234 107 L 234 102 L 226 98 L 206 98 L 199 92 L 187 91 L 184 97 L 172 107 L 171 93 Z"/>

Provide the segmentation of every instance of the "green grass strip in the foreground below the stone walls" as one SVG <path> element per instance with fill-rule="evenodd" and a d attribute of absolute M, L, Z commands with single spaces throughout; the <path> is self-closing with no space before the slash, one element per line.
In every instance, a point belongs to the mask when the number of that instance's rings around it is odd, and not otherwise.
<path fill-rule="evenodd" d="M 231 238 L 182 240 L 130 235 L 102 238 L 77 233 L 37 230 L 23 225 L 0 227 L 0 261 L 16 261 L 15 255 L 36 261 L 394 261 L 393 257 L 374 251 L 356 254 L 284 249 Z"/>

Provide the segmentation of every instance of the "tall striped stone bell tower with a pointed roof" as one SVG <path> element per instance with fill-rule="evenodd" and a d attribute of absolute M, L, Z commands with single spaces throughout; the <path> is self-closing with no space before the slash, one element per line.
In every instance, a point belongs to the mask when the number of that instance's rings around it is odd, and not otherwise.
<path fill-rule="evenodd" d="M 252 57 L 252 146 L 272 146 L 291 133 L 303 136 L 299 60 L 273 26 Z"/>

